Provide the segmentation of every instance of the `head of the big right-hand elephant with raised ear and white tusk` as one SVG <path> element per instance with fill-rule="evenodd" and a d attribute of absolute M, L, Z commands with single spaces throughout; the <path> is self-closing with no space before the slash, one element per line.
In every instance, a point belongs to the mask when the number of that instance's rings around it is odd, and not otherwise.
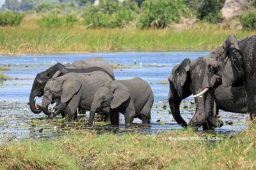
<path fill-rule="evenodd" d="M 234 85 L 238 79 L 243 79 L 243 54 L 239 41 L 233 35 L 228 36 L 222 46 L 215 48 L 207 58 L 205 81 L 202 89 L 223 85 Z M 241 85 L 237 83 L 237 85 Z M 196 96 L 202 96 L 201 91 Z"/>

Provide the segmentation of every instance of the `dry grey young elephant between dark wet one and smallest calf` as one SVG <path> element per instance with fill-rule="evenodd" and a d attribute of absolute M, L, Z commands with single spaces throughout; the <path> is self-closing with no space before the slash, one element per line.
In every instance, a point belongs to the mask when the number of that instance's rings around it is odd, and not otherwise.
<path fill-rule="evenodd" d="M 48 106 L 60 101 L 65 106 L 67 121 L 77 120 L 77 108 L 91 110 L 97 89 L 111 83 L 112 78 L 102 71 L 92 73 L 68 73 L 47 81 L 44 88 L 42 111 L 51 115 Z"/>

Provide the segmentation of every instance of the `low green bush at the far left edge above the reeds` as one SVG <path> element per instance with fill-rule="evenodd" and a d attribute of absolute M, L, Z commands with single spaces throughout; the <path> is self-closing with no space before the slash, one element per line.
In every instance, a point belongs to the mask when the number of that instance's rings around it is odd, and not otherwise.
<path fill-rule="evenodd" d="M 24 17 L 24 13 L 17 13 L 14 11 L 0 12 L 0 25 L 19 25 Z"/>

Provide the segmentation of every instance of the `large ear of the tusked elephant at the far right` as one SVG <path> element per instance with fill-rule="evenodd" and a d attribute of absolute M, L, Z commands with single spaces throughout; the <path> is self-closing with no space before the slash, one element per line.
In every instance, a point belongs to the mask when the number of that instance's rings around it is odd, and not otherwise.
<path fill-rule="evenodd" d="M 228 59 L 222 74 L 224 87 L 234 84 L 237 78 L 243 78 L 243 53 L 239 48 L 238 41 L 234 36 L 228 36 L 226 41 L 230 45 L 227 47 Z"/>

